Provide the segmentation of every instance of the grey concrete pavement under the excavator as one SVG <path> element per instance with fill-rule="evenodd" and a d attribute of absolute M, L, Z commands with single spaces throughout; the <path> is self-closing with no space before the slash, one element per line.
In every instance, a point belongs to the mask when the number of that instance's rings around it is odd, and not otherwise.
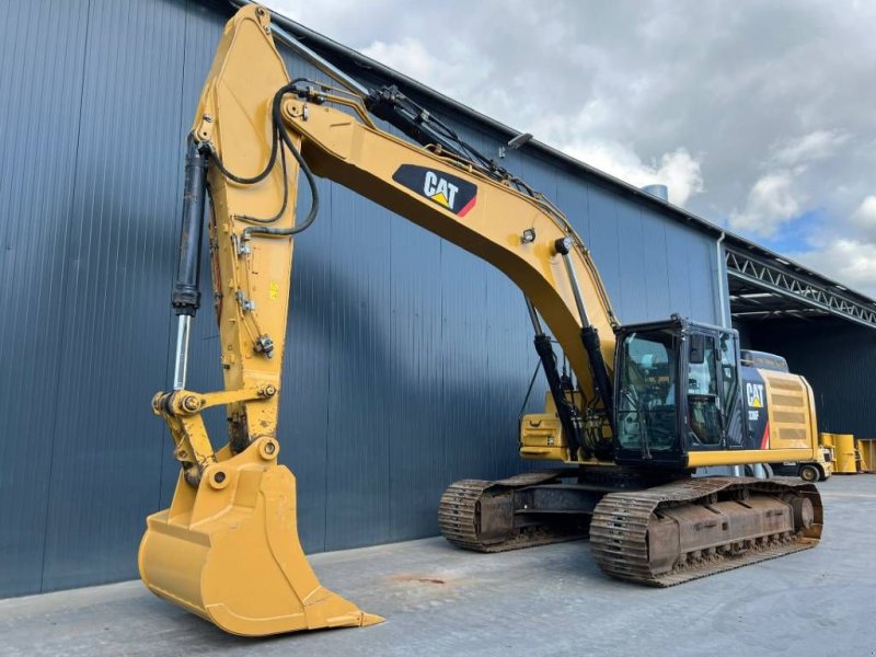
<path fill-rule="evenodd" d="M 875 655 L 876 475 L 819 487 L 818 548 L 670 589 L 604 577 L 586 541 L 428 539 L 311 558 L 380 625 L 245 639 L 129 581 L 0 601 L 0 655 Z"/>

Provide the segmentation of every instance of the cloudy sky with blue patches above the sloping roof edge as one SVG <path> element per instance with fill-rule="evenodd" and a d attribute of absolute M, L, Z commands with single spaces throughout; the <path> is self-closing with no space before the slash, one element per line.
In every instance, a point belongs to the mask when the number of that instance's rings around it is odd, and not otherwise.
<path fill-rule="evenodd" d="M 876 297 L 876 0 L 272 0 Z"/>

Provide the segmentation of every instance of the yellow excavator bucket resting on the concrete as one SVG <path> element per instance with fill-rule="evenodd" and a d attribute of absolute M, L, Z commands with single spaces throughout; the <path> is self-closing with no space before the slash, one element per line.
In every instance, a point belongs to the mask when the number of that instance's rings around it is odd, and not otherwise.
<path fill-rule="evenodd" d="M 320 585 L 298 539 L 295 476 L 277 451 L 261 438 L 227 460 L 217 454 L 197 487 L 181 474 L 171 508 L 147 519 L 143 583 L 245 636 L 381 622 Z"/>

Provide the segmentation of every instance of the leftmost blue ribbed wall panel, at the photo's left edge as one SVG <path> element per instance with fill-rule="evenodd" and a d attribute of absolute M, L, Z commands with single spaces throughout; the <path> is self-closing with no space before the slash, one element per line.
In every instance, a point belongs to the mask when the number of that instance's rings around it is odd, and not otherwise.
<path fill-rule="evenodd" d="M 87 10 L 25 2 L 0 21 L 0 595 L 43 579 Z"/>

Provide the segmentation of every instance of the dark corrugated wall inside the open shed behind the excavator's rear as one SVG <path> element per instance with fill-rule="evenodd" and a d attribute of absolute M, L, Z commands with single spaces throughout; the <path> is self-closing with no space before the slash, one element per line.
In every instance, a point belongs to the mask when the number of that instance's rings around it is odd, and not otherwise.
<path fill-rule="evenodd" d="M 876 332 L 839 319 L 750 322 L 751 348 L 780 354 L 815 391 L 818 428 L 876 438 Z"/>

